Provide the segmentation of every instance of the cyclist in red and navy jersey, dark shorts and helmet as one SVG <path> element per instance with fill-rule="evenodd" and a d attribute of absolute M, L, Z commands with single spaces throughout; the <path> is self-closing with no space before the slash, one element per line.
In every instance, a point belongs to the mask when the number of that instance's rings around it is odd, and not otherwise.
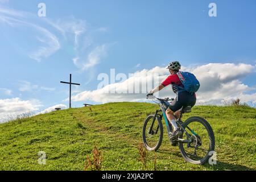
<path fill-rule="evenodd" d="M 159 92 L 164 87 L 172 85 L 172 90 L 177 94 L 174 102 L 171 103 L 170 107 L 166 110 L 166 116 L 170 121 L 171 125 L 174 127 L 174 132 L 171 134 L 170 140 L 176 140 L 179 135 L 182 134 L 180 128 L 177 126 L 176 119 L 179 118 L 181 109 L 183 106 L 193 107 L 196 104 L 196 94 L 191 94 L 183 89 L 183 84 L 181 83 L 177 73 L 181 69 L 179 61 L 173 61 L 167 67 L 171 75 L 162 82 L 161 85 L 157 86 L 155 89 L 151 90 L 148 95 L 152 95 L 155 92 Z"/>

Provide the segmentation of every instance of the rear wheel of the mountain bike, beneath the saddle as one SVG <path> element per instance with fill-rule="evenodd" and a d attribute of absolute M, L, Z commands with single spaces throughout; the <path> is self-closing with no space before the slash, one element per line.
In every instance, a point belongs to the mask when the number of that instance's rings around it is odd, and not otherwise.
<path fill-rule="evenodd" d="M 183 158 L 192 164 L 208 162 L 211 157 L 209 152 L 214 151 L 215 147 L 214 133 L 210 124 L 203 118 L 192 117 L 183 123 L 183 127 L 193 139 L 192 143 L 179 143 Z M 179 138 L 187 138 L 187 135 L 183 133 Z"/>

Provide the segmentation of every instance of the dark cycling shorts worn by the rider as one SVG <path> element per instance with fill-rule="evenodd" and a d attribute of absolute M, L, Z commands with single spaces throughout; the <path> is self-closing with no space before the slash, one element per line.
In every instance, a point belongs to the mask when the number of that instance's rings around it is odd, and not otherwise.
<path fill-rule="evenodd" d="M 169 108 L 175 113 L 177 110 L 180 110 L 183 106 L 195 106 L 196 104 L 196 95 L 190 94 L 188 92 L 180 92 L 175 100 L 171 103 Z"/>

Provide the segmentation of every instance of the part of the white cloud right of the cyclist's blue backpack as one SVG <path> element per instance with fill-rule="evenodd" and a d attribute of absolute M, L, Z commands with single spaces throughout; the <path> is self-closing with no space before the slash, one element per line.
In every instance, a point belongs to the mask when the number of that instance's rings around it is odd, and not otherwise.
<path fill-rule="evenodd" d="M 207 64 L 188 69 L 197 75 L 201 83 L 198 93 L 199 104 L 221 103 L 226 98 L 242 96 L 253 90 L 240 79 L 253 72 L 255 67 L 249 64 Z M 247 102 L 247 100 L 246 100 Z"/>

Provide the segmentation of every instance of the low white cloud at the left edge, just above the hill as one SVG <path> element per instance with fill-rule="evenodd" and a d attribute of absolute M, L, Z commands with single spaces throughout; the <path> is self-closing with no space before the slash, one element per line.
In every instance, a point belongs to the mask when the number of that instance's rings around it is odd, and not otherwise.
<path fill-rule="evenodd" d="M 42 107 L 38 100 L 23 101 L 20 98 L 0 100 L 0 122 L 15 119 L 19 114 L 34 113 Z"/>

